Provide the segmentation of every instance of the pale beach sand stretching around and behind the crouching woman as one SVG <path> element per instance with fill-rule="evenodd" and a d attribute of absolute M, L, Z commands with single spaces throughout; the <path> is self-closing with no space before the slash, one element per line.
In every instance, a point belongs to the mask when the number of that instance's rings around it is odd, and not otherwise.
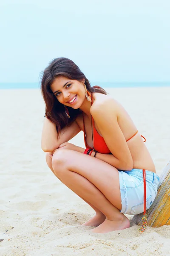
<path fill-rule="evenodd" d="M 170 160 L 170 87 L 109 88 L 139 132 L 160 176 Z M 0 256 L 167 256 L 170 226 L 92 234 L 94 215 L 48 169 L 40 90 L 0 90 Z M 80 132 L 71 143 L 84 146 Z M 126 215 L 132 218 L 132 215 Z"/>

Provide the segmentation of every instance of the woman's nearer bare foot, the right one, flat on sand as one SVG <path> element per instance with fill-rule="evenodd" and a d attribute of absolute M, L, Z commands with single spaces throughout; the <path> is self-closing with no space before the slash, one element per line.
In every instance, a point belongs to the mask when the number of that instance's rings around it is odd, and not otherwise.
<path fill-rule="evenodd" d="M 101 225 L 99 225 L 99 227 L 94 228 L 92 232 L 108 233 L 115 230 L 123 230 L 128 227 L 130 227 L 130 221 L 124 215 L 122 220 L 119 221 L 110 221 L 108 219 L 105 219 L 105 221 Z"/>

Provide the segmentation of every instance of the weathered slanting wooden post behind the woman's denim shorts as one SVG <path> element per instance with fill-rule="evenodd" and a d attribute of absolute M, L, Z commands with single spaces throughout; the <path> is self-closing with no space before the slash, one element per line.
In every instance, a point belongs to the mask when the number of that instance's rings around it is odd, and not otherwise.
<path fill-rule="evenodd" d="M 134 215 L 130 222 L 141 226 L 142 216 L 143 213 Z M 170 161 L 161 173 L 156 198 L 147 210 L 147 225 L 150 227 L 170 225 Z"/>

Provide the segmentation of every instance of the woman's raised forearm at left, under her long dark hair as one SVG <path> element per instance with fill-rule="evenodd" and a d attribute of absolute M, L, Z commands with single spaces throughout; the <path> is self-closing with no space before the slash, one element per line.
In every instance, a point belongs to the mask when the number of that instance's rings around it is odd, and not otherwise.
<path fill-rule="evenodd" d="M 41 148 L 44 152 L 52 152 L 58 148 L 56 125 L 45 117 L 42 128 Z"/>

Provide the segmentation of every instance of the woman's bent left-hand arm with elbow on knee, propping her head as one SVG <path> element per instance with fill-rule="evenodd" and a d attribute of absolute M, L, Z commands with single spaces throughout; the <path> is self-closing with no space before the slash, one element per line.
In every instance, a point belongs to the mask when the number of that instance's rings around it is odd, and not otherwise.
<path fill-rule="evenodd" d="M 52 152 L 58 148 L 60 144 L 71 140 L 80 131 L 81 129 L 77 122 L 74 121 L 70 126 L 62 128 L 58 139 L 56 125 L 45 117 L 42 128 L 41 148 L 44 152 Z"/>

